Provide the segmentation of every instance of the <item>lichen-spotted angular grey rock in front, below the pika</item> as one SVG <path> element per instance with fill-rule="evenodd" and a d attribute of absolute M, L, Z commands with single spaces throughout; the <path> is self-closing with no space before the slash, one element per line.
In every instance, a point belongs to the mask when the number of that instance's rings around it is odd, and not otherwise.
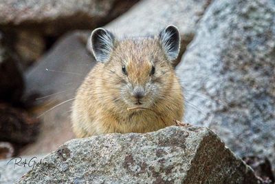
<path fill-rule="evenodd" d="M 18 183 L 257 183 L 205 127 L 106 134 L 65 143 Z"/>

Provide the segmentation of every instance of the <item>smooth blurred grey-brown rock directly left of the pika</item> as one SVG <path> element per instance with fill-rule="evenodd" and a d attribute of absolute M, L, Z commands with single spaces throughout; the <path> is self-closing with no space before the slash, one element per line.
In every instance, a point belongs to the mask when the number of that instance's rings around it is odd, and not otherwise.
<path fill-rule="evenodd" d="M 39 105 L 34 112 L 39 116 L 54 105 L 73 99 L 94 65 L 92 61 L 77 32 L 58 41 L 25 75 L 25 96 L 34 96 L 34 103 Z M 71 103 L 72 100 L 67 101 L 40 116 L 41 132 L 36 142 L 26 146 L 21 155 L 52 152 L 74 137 L 69 119 Z"/>

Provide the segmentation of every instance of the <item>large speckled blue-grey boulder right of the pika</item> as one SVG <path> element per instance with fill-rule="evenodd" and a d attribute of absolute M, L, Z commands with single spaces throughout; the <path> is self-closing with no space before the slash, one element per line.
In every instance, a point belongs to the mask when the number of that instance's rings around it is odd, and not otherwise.
<path fill-rule="evenodd" d="M 239 156 L 275 167 L 275 2 L 217 0 L 177 72 L 186 119 L 210 127 Z"/>

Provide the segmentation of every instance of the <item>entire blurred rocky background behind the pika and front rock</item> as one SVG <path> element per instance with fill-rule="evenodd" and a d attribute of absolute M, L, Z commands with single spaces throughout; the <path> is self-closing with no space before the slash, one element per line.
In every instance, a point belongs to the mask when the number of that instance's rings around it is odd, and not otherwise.
<path fill-rule="evenodd" d="M 41 158 L 74 139 L 70 106 L 95 65 L 91 30 L 142 36 L 169 24 L 181 34 L 175 70 L 186 97 L 184 121 L 209 127 L 261 182 L 274 183 L 272 0 L 0 1 L 0 159 Z M 0 183 L 27 172 L 7 161 L 0 161 Z"/>

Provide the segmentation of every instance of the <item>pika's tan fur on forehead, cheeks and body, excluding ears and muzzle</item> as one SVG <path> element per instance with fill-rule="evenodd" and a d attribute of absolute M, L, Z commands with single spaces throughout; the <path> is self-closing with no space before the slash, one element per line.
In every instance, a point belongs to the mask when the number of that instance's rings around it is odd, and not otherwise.
<path fill-rule="evenodd" d="M 126 66 L 128 76 L 122 73 Z M 152 65 L 155 74 L 150 76 Z M 126 82 L 125 82 L 126 81 Z M 127 110 L 131 96 L 122 86 L 146 85 L 153 81 L 157 96 L 144 96 L 151 110 Z M 151 132 L 181 121 L 184 100 L 175 71 L 155 38 L 115 41 L 107 63 L 98 63 L 87 75 L 72 107 L 72 124 L 78 138 L 113 132 Z M 161 116 L 161 117 L 160 117 Z"/>

